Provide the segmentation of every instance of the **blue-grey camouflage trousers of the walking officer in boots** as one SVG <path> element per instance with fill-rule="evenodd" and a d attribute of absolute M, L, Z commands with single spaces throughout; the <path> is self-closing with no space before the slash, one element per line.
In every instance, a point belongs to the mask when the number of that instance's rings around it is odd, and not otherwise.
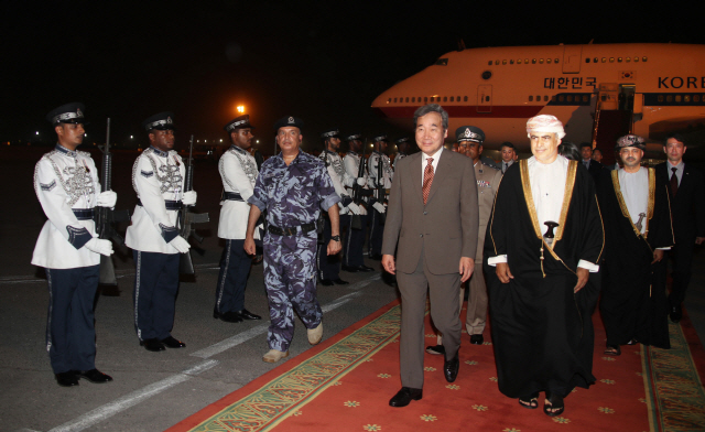
<path fill-rule="evenodd" d="M 306 328 L 323 318 L 316 299 L 316 233 L 264 237 L 264 287 L 269 300 L 270 349 L 285 352 L 294 337 L 294 310 Z"/>

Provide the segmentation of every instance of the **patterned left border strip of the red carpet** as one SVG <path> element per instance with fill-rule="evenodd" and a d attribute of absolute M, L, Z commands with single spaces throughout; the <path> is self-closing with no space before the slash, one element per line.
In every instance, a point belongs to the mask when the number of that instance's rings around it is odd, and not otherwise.
<path fill-rule="evenodd" d="M 269 431 L 392 342 L 401 309 L 389 311 L 193 428 L 194 432 Z"/>

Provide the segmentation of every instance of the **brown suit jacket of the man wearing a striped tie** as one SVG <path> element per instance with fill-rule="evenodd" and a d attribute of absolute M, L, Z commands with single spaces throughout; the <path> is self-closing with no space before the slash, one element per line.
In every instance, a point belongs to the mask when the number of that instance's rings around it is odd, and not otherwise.
<path fill-rule="evenodd" d="M 444 149 L 425 205 L 422 163 L 421 152 L 399 161 L 382 253 L 394 255 L 397 250 L 397 270 L 413 273 L 423 250 L 431 273 L 457 273 L 460 257 L 475 260 L 477 248 L 479 215 L 473 160 Z"/>

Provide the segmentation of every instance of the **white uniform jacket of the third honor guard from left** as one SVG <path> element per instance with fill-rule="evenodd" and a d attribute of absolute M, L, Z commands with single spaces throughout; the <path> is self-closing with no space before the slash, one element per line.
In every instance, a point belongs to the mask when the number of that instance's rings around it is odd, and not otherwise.
<path fill-rule="evenodd" d="M 231 145 L 218 162 L 218 172 L 223 179 L 223 188 L 226 193 L 240 195 L 242 201 L 225 199 L 220 208 L 218 223 L 218 237 L 225 239 L 245 239 L 247 219 L 250 215 L 250 204 L 247 202 L 252 196 L 254 182 L 259 174 L 254 158 L 237 145 Z M 254 230 L 254 237 L 259 238 L 259 229 Z"/>

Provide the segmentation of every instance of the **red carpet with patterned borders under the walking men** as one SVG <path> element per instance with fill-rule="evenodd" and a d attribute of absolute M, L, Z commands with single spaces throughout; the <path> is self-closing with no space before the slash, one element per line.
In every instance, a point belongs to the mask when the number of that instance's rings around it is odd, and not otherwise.
<path fill-rule="evenodd" d="M 443 357 L 425 355 L 421 401 L 391 408 L 400 389 L 399 306 L 394 302 L 345 332 L 177 423 L 170 431 L 703 431 L 705 352 L 687 318 L 671 325 L 670 350 L 625 346 L 601 354 L 594 316 L 596 385 L 566 398 L 557 418 L 519 406 L 497 389 L 492 346 L 463 335 L 460 371 L 449 385 Z M 486 338 L 489 331 L 485 332 Z M 426 318 L 426 343 L 435 335 Z"/>

